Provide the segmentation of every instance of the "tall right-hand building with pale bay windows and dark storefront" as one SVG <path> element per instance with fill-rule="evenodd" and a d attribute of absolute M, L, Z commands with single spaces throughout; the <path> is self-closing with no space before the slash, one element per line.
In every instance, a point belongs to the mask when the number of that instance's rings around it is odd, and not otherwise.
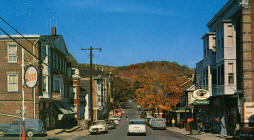
<path fill-rule="evenodd" d="M 209 119 L 225 116 L 229 134 L 251 126 L 253 115 L 254 1 L 229 0 L 208 22 L 203 39 L 204 57 L 196 65 L 196 87 L 212 93 Z"/>

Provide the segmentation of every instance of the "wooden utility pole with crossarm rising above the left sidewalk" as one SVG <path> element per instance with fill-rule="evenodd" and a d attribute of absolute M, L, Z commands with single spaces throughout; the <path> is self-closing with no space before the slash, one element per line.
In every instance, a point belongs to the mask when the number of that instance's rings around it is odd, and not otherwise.
<path fill-rule="evenodd" d="M 90 48 L 81 49 L 81 50 L 89 50 L 90 51 L 90 102 L 91 102 L 91 109 L 90 115 L 91 115 L 91 121 L 93 121 L 93 50 L 99 50 L 101 51 L 101 48 L 93 48 L 92 46 Z"/>

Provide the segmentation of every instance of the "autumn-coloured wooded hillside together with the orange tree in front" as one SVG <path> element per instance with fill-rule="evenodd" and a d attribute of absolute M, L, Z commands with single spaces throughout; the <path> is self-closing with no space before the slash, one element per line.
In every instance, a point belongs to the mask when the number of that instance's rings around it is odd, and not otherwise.
<path fill-rule="evenodd" d="M 192 72 L 186 66 L 156 61 L 118 68 L 115 74 L 129 83 L 121 87 L 128 90 L 129 94 L 133 92 L 137 104 L 159 112 L 171 111 L 179 103 L 183 95 L 181 85 Z M 126 96 L 125 93 L 120 95 Z"/>

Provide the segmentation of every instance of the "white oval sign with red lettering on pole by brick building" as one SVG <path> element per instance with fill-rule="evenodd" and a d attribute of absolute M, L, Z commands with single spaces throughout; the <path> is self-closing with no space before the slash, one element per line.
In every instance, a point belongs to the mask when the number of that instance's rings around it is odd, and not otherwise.
<path fill-rule="evenodd" d="M 25 84 L 27 87 L 29 88 L 33 88 L 37 81 L 38 81 L 38 71 L 37 69 L 30 65 L 27 67 L 26 71 L 25 71 Z"/>

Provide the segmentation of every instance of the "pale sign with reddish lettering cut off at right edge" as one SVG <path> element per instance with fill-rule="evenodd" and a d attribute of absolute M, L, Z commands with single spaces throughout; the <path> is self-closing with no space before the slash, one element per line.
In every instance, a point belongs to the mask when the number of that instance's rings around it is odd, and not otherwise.
<path fill-rule="evenodd" d="M 254 102 L 245 102 L 243 105 L 244 123 L 254 122 Z"/>

